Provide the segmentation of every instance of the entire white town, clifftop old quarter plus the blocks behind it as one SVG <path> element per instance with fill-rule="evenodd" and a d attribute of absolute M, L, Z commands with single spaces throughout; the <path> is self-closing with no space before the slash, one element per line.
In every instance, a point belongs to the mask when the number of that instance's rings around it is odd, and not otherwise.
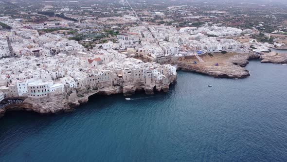
<path fill-rule="evenodd" d="M 101 89 L 120 81 L 169 84 L 165 79 L 176 75 L 176 67 L 161 62 L 197 55 L 198 51 L 246 50 L 237 41 L 209 38 L 202 32 L 234 36 L 242 31 L 216 26 L 179 31 L 166 26 L 132 27 L 130 35 L 117 36 L 118 43 L 97 44 L 89 51 L 77 41 L 50 33 L 39 35 L 34 29 L 0 31 L 1 99 L 47 98 L 81 87 Z M 121 50 L 126 52 L 119 53 Z M 128 57 L 135 54 L 152 61 L 144 63 Z"/>

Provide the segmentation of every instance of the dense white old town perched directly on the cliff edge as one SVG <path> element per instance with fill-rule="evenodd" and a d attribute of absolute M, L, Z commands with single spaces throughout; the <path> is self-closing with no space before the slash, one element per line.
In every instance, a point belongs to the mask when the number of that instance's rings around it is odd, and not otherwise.
<path fill-rule="evenodd" d="M 164 82 L 169 75 L 176 75 L 176 68 L 126 58 L 114 50 L 100 50 L 78 56 L 5 58 L 0 60 L 0 74 L 0 92 L 7 98 L 47 97 L 81 87 Z"/>

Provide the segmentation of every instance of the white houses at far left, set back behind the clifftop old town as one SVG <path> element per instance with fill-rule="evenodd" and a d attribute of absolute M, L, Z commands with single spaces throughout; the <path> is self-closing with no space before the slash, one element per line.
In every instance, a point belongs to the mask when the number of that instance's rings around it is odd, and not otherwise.
<path fill-rule="evenodd" d="M 39 35 L 36 30 L 17 28 L 0 31 L 0 58 L 8 56 L 50 56 L 66 51 L 84 51 L 83 45 L 57 35 Z"/>

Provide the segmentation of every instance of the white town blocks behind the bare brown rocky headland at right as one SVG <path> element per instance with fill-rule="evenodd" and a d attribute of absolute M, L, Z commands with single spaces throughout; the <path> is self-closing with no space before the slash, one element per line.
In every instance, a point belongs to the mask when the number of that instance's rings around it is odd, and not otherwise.
<path fill-rule="evenodd" d="M 149 25 L 131 27 L 126 35 L 118 35 L 118 43 L 98 44 L 98 48 L 117 49 L 138 54 L 152 61 L 170 61 L 173 57 L 195 55 L 197 51 L 238 51 L 244 45 L 223 37 L 240 36 L 241 29 L 203 26 L 183 27 Z"/>

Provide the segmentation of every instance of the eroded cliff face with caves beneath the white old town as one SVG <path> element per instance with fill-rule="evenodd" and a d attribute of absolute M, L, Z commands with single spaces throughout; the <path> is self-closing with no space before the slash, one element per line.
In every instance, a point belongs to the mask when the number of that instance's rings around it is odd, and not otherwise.
<path fill-rule="evenodd" d="M 89 97 L 92 95 L 111 95 L 111 94 L 124 94 L 130 96 L 137 91 L 144 91 L 145 94 L 153 94 L 155 91 L 167 92 L 170 84 L 176 83 L 177 76 L 171 76 L 168 83 L 155 83 L 151 85 L 144 85 L 140 83 L 117 85 L 110 87 L 103 87 L 98 90 L 81 89 L 73 95 L 76 95 L 72 100 L 68 95 L 60 94 L 51 96 L 45 99 L 26 98 L 23 102 L 13 103 L 2 109 L 0 109 L 0 118 L 4 116 L 6 111 L 33 111 L 39 114 L 56 114 L 61 112 L 69 112 L 74 108 L 80 106 L 89 101 Z M 7 99 L 8 100 L 8 99 Z"/>

